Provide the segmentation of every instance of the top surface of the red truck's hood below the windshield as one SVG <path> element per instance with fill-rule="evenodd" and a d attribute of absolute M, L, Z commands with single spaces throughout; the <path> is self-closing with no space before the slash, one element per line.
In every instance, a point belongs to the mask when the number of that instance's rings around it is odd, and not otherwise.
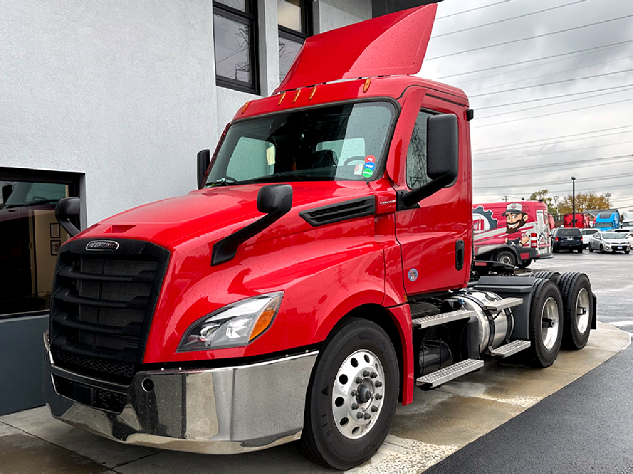
<path fill-rule="evenodd" d="M 299 217 L 301 210 L 364 197 L 371 193 L 365 181 L 311 181 L 291 183 L 292 209 L 257 241 L 300 232 L 311 226 Z M 179 243 L 206 235 L 210 243 L 242 228 L 264 214 L 257 210 L 257 193 L 265 185 L 222 186 L 142 205 L 104 219 L 78 238 L 147 240 L 173 250 Z"/>

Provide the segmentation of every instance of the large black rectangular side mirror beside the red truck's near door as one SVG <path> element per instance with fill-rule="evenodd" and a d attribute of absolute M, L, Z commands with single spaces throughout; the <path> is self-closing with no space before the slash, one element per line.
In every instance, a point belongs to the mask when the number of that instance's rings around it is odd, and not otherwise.
<path fill-rule="evenodd" d="M 427 121 L 427 175 L 432 179 L 406 193 L 398 208 L 406 209 L 452 183 L 459 169 L 459 129 L 455 114 L 437 114 Z"/>

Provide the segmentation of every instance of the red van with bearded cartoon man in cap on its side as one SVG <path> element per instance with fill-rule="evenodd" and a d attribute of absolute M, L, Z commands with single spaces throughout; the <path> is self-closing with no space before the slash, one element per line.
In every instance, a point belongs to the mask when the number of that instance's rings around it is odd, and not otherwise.
<path fill-rule="evenodd" d="M 551 258 L 549 217 L 539 201 L 473 204 L 475 258 L 520 268 Z"/>

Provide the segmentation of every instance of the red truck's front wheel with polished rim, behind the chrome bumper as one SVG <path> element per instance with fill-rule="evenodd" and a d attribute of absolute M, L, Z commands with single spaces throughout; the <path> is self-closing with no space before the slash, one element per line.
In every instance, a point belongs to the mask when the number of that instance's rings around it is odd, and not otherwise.
<path fill-rule="evenodd" d="M 398 388 L 398 358 L 385 331 L 342 320 L 313 369 L 299 451 L 339 470 L 367 461 L 387 437 Z"/>

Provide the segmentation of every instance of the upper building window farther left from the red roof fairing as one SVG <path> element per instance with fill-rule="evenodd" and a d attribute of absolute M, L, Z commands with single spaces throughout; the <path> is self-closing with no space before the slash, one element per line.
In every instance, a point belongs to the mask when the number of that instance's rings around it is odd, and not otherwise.
<path fill-rule="evenodd" d="M 215 82 L 244 92 L 259 93 L 256 1 L 213 2 Z"/>

